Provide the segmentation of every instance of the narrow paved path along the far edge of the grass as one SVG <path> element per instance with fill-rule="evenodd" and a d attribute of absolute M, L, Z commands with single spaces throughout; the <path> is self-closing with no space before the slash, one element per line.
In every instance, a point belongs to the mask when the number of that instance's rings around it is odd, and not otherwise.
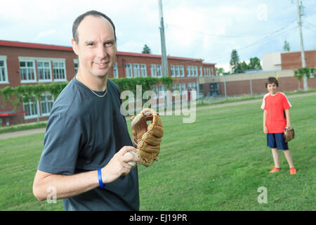
<path fill-rule="evenodd" d="M 291 96 L 287 96 L 288 98 L 297 98 L 297 97 L 303 97 L 303 96 L 313 96 L 316 95 L 316 92 L 312 93 L 307 93 L 307 94 L 294 94 Z M 218 104 L 218 105 L 207 105 L 203 107 L 197 108 L 197 110 L 204 110 L 204 109 L 210 109 L 210 108 L 221 108 L 225 106 L 230 106 L 230 105 L 243 105 L 243 104 L 248 104 L 248 103 L 258 103 L 261 102 L 262 98 L 260 99 L 254 99 L 254 100 L 248 100 L 248 101 L 239 101 L 235 103 L 223 103 L 223 104 Z M 45 133 L 46 128 L 37 128 L 37 129 L 27 129 L 24 131 L 14 131 L 14 132 L 8 132 L 4 134 L 0 134 L 0 140 L 2 139 L 11 139 L 15 138 L 18 136 L 26 136 L 26 135 L 31 135 L 31 134 L 39 134 L 39 133 Z"/>

